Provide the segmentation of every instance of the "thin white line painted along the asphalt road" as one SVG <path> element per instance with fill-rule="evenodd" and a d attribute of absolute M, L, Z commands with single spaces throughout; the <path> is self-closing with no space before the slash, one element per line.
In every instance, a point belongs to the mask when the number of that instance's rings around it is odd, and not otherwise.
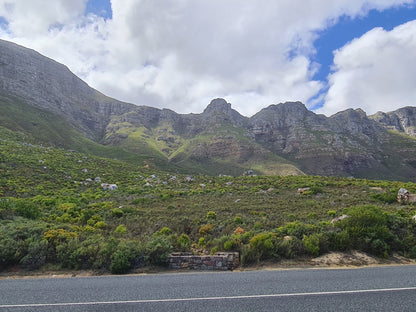
<path fill-rule="evenodd" d="M 385 288 L 385 289 L 361 289 L 361 290 L 340 290 L 340 291 L 327 291 L 327 292 L 307 292 L 307 293 L 269 294 L 269 295 L 246 295 L 246 296 L 229 296 L 229 297 L 139 299 L 139 300 L 125 300 L 125 301 L 32 303 L 32 304 L 10 304 L 10 305 L 6 304 L 6 305 L 0 305 L 0 308 L 66 307 L 66 306 L 110 305 L 110 304 L 132 304 L 132 303 L 163 303 L 163 302 L 184 302 L 184 301 L 263 299 L 263 298 L 282 298 L 282 297 L 299 297 L 299 296 L 323 296 L 323 295 L 377 293 L 377 292 L 392 292 L 392 291 L 404 291 L 404 290 L 416 290 L 416 287 Z"/>

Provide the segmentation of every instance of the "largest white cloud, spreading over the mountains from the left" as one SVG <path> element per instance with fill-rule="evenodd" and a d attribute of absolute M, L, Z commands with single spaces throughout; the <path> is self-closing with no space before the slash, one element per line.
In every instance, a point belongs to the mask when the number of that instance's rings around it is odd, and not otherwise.
<path fill-rule="evenodd" d="M 112 0 L 112 19 L 86 0 L 5 0 L 0 37 L 70 67 L 101 92 L 139 105 L 201 112 L 224 97 L 244 115 L 308 102 L 316 31 L 340 16 L 414 0 Z"/>

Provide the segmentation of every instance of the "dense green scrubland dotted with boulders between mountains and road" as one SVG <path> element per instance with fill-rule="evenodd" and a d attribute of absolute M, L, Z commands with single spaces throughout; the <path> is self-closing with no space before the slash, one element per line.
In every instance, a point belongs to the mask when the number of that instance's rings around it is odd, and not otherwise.
<path fill-rule="evenodd" d="M 348 250 L 416 258 L 416 207 L 396 200 L 414 183 L 186 176 L 0 138 L 0 271 L 127 273 L 172 251 L 239 251 L 242 265 Z"/>

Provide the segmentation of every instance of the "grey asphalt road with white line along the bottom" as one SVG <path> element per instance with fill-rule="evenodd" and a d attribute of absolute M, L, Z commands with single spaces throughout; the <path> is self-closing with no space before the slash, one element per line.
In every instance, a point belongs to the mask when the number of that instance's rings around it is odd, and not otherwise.
<path fill-rule="evenodd" d="M 416 311 L 416 266 L 3 279 L 0 311 Z"/>

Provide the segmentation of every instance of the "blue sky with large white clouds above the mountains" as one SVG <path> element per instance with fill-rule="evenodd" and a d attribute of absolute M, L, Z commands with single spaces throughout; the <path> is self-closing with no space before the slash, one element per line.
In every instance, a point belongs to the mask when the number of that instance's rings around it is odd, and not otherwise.
<path fill-rule="evenodd" d="M 416 0 L 0 0 L 0 38 L 178 113 L 416 106 Z"/>

